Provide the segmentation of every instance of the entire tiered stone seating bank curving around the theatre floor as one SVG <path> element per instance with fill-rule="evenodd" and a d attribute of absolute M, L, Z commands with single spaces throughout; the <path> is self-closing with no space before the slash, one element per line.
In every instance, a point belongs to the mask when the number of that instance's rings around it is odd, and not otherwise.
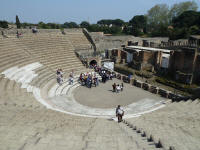
<path fill-rule="evenodd" d="M 78 82 L 67 83 L 72 69 L 76 78 L 90 71 L 76 58 L 67 35 L 44 32 L 0 38 L 0 150 L 154 150 L 159 139 L 164 148 L 199 149 L 198 101 L 169 103 L 156 112 L 127 119 L 129 124 L 47 109 L 60 108 L 51 98 L 70 98 L 78 86 Z M 55 80 L 58 68 L 65 72 L 62 86 Z M 141 136 L 143 130 L 154 140 Z"/>

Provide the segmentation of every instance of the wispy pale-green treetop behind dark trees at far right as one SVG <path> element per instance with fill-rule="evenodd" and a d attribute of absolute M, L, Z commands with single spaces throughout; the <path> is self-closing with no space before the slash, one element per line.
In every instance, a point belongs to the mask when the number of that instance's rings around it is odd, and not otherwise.
<path fill-rule="evenodd" d="M 186 1 L 174 4 L 169 11 L 169 19 L 172 20 L 175 17 L 178 17 L 185 11 L 197 11 L 198 5 L 195 1 Z"/>

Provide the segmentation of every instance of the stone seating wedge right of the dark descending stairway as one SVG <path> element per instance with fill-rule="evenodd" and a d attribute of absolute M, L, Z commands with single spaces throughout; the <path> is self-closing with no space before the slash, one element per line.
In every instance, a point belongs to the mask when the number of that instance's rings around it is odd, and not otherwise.
<path fill-rule="evenodd" d="M 138 118 L 127 119 L 135 130 L 145 132 L 165 149 L 200 149 L 200 100 L 169 102 L 163 109 Z"/>

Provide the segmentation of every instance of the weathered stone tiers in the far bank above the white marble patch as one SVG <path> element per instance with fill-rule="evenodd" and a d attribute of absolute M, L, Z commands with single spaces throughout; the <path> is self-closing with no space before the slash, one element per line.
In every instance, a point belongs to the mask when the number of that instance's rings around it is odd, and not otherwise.
<path fill-rule="evenodd" d="M 77 34 L 78 31 L 72 32 L 70 35 L 73 33 Z M 8 38 L 1 37 L 0 71 L 3 72 L 13 66 L 21 67 L 39 61 L 44 66 L 36 70 L 38 77 L 31 82 L 31 85 L 41 88 L 47 81 L 54 80 L 55 71 L 58 68 L 62 68 L 66 75 L 72 69 L 75 72 L 85 70 L 82 63 L 76 58 L 74 47 L 71 41 L 69 41 L 68 36 L 62 35 L 60 32 L 49 32 L 24 34 L 20 38 L 16 38 L 15 35 L 9 35 Z M 9 80 L 1 78 L 7 87 L 6 83 L 9 83 Z M 1 97 L 3 97 L 3 94 Z"/>

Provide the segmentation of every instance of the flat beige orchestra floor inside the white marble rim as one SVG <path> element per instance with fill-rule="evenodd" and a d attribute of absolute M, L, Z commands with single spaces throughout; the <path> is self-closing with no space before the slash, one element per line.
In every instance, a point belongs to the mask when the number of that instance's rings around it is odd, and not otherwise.
<path fill-rule="evenodd" d="M 164 98 L 158 95 L 125 83 L 122 92 L 112 92 L 112 84 L 114 83 L 121 84 L 120 80 L 113 79 L 105 84 L 100 83 L 98 87 L 87 88 L 79 86 L 74 91 L 74 97 L 78 103 L 94 108 L 115 108 L 119 104 L 127 106 L 144 99 L 164 100 Z"/>

